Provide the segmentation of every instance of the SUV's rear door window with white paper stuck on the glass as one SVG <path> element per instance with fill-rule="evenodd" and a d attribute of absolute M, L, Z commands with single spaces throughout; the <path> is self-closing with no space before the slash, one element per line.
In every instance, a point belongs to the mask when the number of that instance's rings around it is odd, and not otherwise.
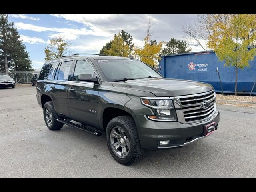
<path fill-rule="evenodd" d="M 61 62 L 58 66 L 58 69 L 56 70 L 54 80 L 62 80 L 67 81 L 70 79 L 70 68 L 73 61 L 65 61 Z"/>

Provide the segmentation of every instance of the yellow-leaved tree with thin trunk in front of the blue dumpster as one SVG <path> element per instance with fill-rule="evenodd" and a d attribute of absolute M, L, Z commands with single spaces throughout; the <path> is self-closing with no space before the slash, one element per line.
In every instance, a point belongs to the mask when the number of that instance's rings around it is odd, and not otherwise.
<path fill-rule="evenodd" d="M 256 14 L 212 14 L 207 17 L 207 46 L 212 48 L 224 66 L 236 69 L 235 95 L 237 94 L 238 69 L 249 66 L 256 56 Z M 214 21 L 214 22 L 212 22 Z"/>

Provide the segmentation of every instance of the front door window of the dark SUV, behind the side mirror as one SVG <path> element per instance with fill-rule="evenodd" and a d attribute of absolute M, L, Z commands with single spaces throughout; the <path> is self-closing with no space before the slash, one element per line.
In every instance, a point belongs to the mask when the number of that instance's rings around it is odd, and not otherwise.
<path fill-rule="evenodd" d="M 76 68 L 74 71 L 73 81 L 79 81 L 79 74 L 84 74 L 89 78 L 96 78 L 96 74 L 88 61 L 76 61 Z"/>

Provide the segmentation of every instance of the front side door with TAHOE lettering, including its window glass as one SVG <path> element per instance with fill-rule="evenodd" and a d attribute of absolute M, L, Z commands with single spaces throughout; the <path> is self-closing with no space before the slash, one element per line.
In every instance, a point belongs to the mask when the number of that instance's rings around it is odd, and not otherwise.
<path fill-rule="evenodd" d="M 68 89 L 70 117 L 78 122 L 98 127 L 98 85 L 80 81 L 78 76 L 86 74 L 92 78 L 96 73 L 88 60 L 77 60 L 74 75 Z"/>

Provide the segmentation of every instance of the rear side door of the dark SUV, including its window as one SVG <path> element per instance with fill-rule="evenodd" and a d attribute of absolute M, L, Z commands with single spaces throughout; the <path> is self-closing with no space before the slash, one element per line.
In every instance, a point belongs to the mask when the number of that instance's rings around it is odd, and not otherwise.
<path fill-rule="evenodd" d="M 50 83 L 50 95 L 52 96 L 54 109 L 58 114 L 69 117 L 68 110 L 68 83 L 73 60 L 59 62 Z"/>

